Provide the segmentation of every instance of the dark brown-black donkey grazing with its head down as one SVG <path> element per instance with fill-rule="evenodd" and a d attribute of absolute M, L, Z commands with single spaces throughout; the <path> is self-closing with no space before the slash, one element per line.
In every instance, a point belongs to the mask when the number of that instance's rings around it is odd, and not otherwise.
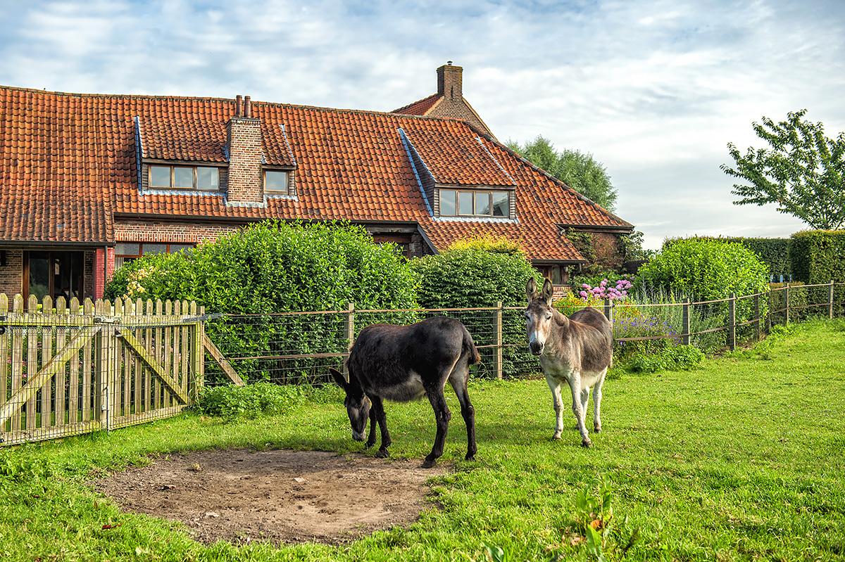
<path fill-rule="evenodd" d="M 480 360 L 466 327 L 454 318 L 436 316 L 410 326 L 373 324 L 364 327 L 346 359 L 349 381 L 346 382 L 335 369 L 330 369 L 330 373 L 346 391 L 344 404 L 352 424 L 352 439 L 364 440 L 369 418 L 365 446 L 373 446 L 375 426 L 379 424 L 381 446 L 377 457 L 387 457 L 387 447 L 392 442 L 382 401 L 411 402 L 428 397 L 437 422 L 434 446 L 423 462 L 423 468 L 430 468 L 443 455 L 452 418 L 443 393 L 446 381 L 450 382 L 461 403 L 461 416 L 466 423 L 466 460 L 475 458 L 475 409 L 470 403 L 466 382 L 470 365 Z"/>

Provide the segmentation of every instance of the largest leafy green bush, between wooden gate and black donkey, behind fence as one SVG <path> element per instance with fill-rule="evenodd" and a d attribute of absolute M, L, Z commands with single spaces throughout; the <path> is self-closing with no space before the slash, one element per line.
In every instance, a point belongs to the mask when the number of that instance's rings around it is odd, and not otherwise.
<path fill-rule="evenodd" d="M 226 357 L 346 352 L 340 315 L 271 316 L 288 311 L 413 309 L 416 277 L 393 245 L 377 245 L 360 226 L 269 221 L 221 236 L 190 253 L 144 256 L 119 269 L 106 296 L 195 300 L 230 315 L 206 330 Z M 378 322 L 378 319 L 373 319 Z M 339 360 L 338 360 L 339 363 Z M 339 365 L 336 365 L 339 366 Z M 318 381 L 310 359 L 237 361 L 244 380 L 285 372 Z M 284 370 L 282 370 L 284 369 Z M 214 368 L 210 382 L 224 380 Z M 277 381 L 281 378 L 276 377 Z"/>

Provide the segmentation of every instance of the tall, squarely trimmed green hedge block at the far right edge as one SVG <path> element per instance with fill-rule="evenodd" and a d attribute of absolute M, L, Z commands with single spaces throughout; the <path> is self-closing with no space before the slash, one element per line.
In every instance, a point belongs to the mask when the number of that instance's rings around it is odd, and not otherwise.
<path fill-rule="evenodd" d="M 845 230 L 804 230 L 792 235 L 789 252 L 793 278 L 808 285 L 845 283 Z M 816 292 L 826 290 L 823 287 Z M 845 285 L 837 285 L 833 300 L 845 302 Z M 835 312 L 842 306 L 835 307 Z"/>

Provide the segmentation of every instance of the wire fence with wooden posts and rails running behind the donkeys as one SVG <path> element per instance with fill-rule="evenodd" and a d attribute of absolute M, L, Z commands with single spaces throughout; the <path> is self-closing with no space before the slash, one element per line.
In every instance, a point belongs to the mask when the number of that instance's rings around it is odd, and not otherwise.
<path fill-rule="evenodd" d="M 733 349 L 740 340 L 760 338 L 772 323 L 789 321 L 810 314 L 813 309 L 825 316 L 837 311 L 833 302 L 834 284 L 786 286 L 756 295 L 732 295 L 728 299 L 682 303 L 632 304 L 629 301 L 605 301 L 605 314 L 613 321 L 614 341 L 619 349 L 624 343 L 671 339 L 677 343 L 711 348 Z M 819 298 L 818 290 L 824 298 Z M 784 296 L 785 295 L 785 296 Z M 796 295 L 801 295 L 797 302 Z M 810 300 L 809 300 L 810 299 Z M 811 301 L 816 299 L 815 301 Z M 782 303 L 785 302 L 785 305 Z M 725 322 L 702 322 L 701 311 L 730 309 Z M 453 316 L 472 333 L 482 354 L 482 364 L 475 368 L 481 376 L 492 378 L 535 375 L 540 372 L 537 358 L 527 351 L 523 306 L 461 309 L 356 310 L 290 312 L 273 315 L 231 315 L 210 321 L 208 336 L 226 357 L 243 381 L 277 382 L 328 381 L 329 367 L 343 368 L 343 360 L 361 328 L 374 322 L 409 323 L 428 316 Z M 631 335 L 621 318 L 632 315 L 641 322 L 653 318 L 677 316 L 665 330 L 651 330 Z M 739 314 L 741 311 L 742 314 Z M 566 311 L 571 313 L 570 311 Z M 641 328 L 642 326 L 638 327 Z M 259 341 L 253 338 L 260 334 Z M 272 351 L 270 351 L 272 350 Z M 270 351 L 270 353 L 268 353 Z M 217 365 L 206 365 L 206 382 L 232 381 Z"/>

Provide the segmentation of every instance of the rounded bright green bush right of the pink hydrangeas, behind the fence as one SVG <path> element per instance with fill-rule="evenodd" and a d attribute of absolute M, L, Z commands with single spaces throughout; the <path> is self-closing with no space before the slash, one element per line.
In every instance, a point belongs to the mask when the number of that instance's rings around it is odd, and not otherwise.
<path fill-rule="evenodd" d="M 638 290 L 659 288 L 674 295 L 689 295 L 694 301 L 728 299 L 731 293 L 737 296 L 765 293 L 769 278 L 766 266 L 753 251 L 738 243 L 706 238 L 679 240 L 665 246 L 637 275 Z M 750 320 L 753 309 L 750 299 L 739 300 L 737 321 Z M 728 303 L 702 305 L 697 312 L 724 322 Z M 766 310 L 761 314 L 765 316 Z"/>

